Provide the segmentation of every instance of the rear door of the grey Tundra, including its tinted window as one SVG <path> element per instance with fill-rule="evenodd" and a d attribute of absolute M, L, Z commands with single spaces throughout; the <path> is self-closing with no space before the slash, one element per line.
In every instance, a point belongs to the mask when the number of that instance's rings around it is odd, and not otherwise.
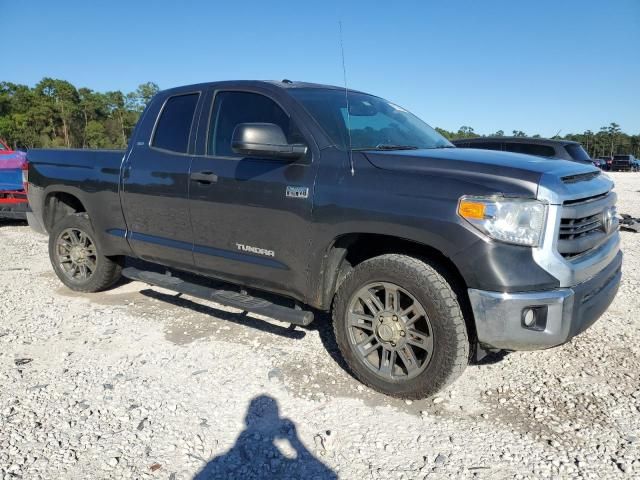
<path fill-rule="evenodd" d="M 123 166 L 127 235 L 135 254 L 146 260 L 193 266 L 189 168 L 200 97 L 188 92 L 150 107 L 141 120 L 147 131 L 136 132 Z"/>

